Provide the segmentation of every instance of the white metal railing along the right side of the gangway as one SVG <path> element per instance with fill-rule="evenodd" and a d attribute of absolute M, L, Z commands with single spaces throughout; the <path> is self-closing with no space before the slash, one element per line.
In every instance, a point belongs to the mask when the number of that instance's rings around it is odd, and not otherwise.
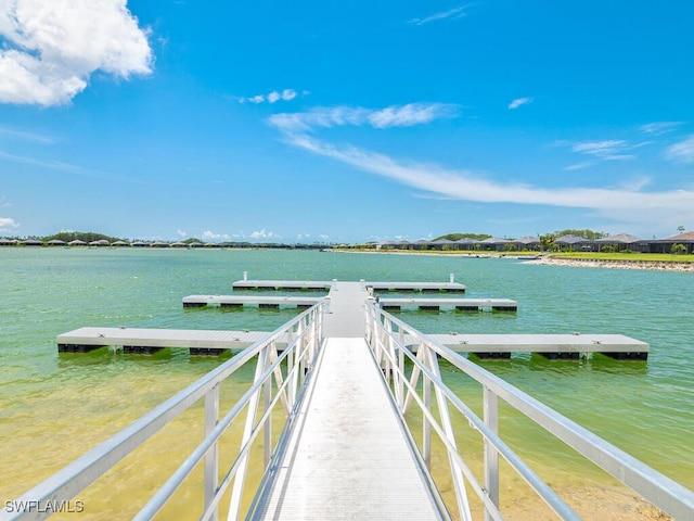
<path fill-rule="evenodd" d="M 415 402 L 423 412 L 422 457 L 430 472 L 432 434 L 448 452 L 460 518 L 472 519 L 466 485 L 484 505 L 486 520 L 503 519 L 499 508 L 499 457 L 535 490 L 562 519 L 580 517 L 523 461 L 499 435 L 499 399 L 503 399 L 588 460 L 612 474 L 676 519 L 694 519 L 694 492 L 660 474 L 587 429 L 560 415 L 510 383 L 460 356 L 439 342 L 381 309 L 367 306 L 367 341 L 384 370 L 394 399 L 403 416 Z M 413 352 L 416 351 L 416 354 Z M 442 381 L 438 358 L 481 384 L 483 418 L 479 418 Z M 406 360 L 411 372 L 406 372 Z M 422 379 L 421 385 L 420 378 Z M 433 411 L 432 389 L 438 408 Z M 466 465 L 455 443 L 449 405 L 458 409 L 484 441 L 483 482 Z"/>

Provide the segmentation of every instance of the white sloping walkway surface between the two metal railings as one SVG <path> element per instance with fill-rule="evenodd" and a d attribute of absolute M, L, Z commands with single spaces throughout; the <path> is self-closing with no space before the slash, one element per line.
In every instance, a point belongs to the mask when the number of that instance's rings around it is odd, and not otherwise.
<path fill-rule="evenodd" d="M 326 340 L 259 519 L 447 519 L 367 342 Z"/>

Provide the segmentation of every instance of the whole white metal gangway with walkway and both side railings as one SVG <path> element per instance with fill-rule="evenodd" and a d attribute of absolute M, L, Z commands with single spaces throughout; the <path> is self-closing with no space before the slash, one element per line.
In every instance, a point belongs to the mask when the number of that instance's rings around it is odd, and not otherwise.
<path fill-rule="evenodd" d="M 694 519 L 692 491 L 384 312 L 363 283 L 336 284 L 329 298 L 25 493 L 13 504 L 29 508 L 7 519 L 47 518 L 51 510 L 41 505 L 74 498 L 200 402 L 202 442 L 142 500 L 134 519 L 154 519 L 178 490 L 190 486 L 190 475 L 202 466 L 201 520 L 217 520 L 220 512 L 228 519 L 470 520 L 471 500 L 481 504 L 485 520 L 501 520 L 502 460 L 560 519 L 580 519 L 504 442 L 500 402 L 665 512 Z M 481 417 L 447 386 L 442 360 L 478 384 Z M 220 385 L 253 364 L 248 389 L 231 408 L 220 410 Z M 343 411 L 330 416 L 336 404 Z M 471 447 L 459 444 L 452 414 L 462 415 L 481 440 L 481 472 L 468 463 Z M 277 421 L 278 416 L 284 421 Z M 220 454 L 221 436 L 240 423 L 237 453 Z M 410 429 L 410 423 L 421 427 Z M 345 425 L 351 429 L 344 432 Z M 264 472 L 247 501 L 244 488 L 250 486 L 254 450 L 262 453 Z M 434 465 L 441 460 L 436 458 L 439 450 L 453 483 L 452 501 L 442 498 L 436 484 L 435 474 L 444 470 Z M 230 463 L 221 468 L 221 460 Z M 340 501 L 345 491 L 354 496 Z"/>

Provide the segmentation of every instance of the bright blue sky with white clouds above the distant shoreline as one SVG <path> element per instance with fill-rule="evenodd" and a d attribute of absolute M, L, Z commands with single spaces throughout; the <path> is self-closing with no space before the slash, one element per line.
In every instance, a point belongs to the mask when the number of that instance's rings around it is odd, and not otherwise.
<path fill-rule="evenodd" d="M 9 0 L 0 236 L 694 229 L 694 3 Z"/>

